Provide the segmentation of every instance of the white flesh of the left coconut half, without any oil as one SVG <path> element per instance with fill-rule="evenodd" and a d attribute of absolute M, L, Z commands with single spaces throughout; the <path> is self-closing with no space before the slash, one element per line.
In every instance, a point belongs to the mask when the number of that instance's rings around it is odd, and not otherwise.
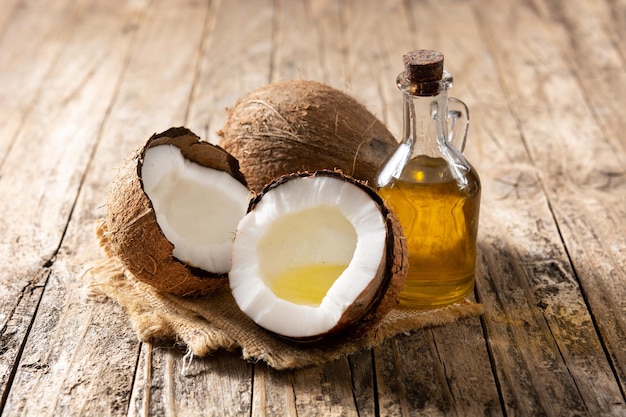
<path fill-rule="evenodd" d="M 146 150 L 141 177 L 172 254 L 205 271 L 228 272 L 249 190 L 226 172 L 189 161 L 174 145 Z"/>

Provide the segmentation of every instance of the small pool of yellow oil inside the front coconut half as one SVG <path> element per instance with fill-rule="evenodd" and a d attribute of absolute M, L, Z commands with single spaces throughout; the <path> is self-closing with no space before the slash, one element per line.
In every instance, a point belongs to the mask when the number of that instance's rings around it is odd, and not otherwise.
<path fill-rule="evenodd" d="M 269 288 L 292 303 L 318 306 L 348 265 L 306 265 L 288 268 L 272 277 Z"/>

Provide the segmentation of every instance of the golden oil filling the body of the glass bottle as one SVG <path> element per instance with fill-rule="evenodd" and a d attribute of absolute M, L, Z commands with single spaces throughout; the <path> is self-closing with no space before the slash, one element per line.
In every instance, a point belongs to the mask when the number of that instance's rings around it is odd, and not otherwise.
<path fill-rule="evenodd" d="M 400 219 L 409 271 L 400 303 L 451 304 L 474 288 L 480 182 L 471 169 L 453 174 L 441 158 L 418 156 L 379 190 Z"/>

